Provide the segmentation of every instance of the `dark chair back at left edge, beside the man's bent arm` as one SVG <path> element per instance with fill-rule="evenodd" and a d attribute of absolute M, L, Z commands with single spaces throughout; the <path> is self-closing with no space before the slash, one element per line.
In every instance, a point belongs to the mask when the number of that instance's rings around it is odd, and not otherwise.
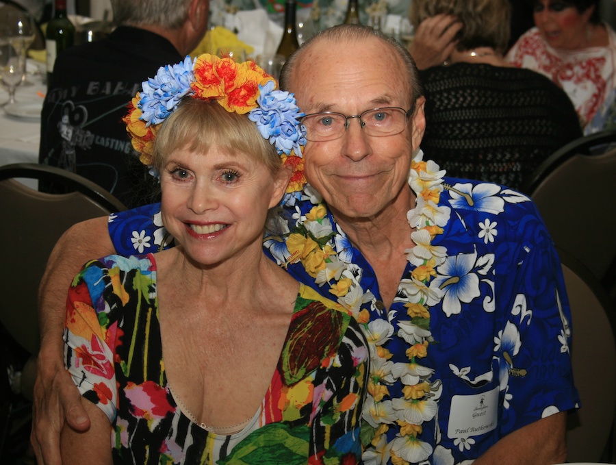
<path fill-rule="evenodd" d="M 70 194 L 33 190 L 14 178 L 66 185 Z M 55 242 L 79 221 L 125 206 L 88 179 L 39 164 L 0 167 L 0 321 L 27 351 L 38 352 L 38 286 Z"/>

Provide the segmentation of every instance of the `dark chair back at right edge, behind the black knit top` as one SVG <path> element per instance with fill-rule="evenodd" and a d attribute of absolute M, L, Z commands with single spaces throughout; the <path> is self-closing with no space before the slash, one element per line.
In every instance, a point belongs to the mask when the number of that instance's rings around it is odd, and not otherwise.
<path fill-rule="evenodd" d="M 524 192 L 539 208 L 557 247 L 602 281 L 616 282 L 616 131 L 586 136 L 546 160 Z"/>

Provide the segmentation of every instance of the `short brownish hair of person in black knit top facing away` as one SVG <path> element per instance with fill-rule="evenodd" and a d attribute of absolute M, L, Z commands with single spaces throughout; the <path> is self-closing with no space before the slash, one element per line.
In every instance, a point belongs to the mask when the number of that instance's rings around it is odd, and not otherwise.
<path fill-rule="evenodd" d="M 504 53 L 511 34 L 509 0 L 413 0 L 409 16 L 413 26 L 437 14 L 456 16 L 463 28 L 457 38 L 459 51 L 493 47 Z"/>

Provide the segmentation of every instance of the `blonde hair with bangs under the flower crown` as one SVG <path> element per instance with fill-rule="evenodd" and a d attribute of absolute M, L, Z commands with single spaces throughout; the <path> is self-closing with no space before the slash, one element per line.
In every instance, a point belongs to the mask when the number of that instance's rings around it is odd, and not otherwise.
<path fill-rule="evenodd" d="M 232 155 L 253 155 L 272 175 L 283 167 L 275 147 L 261 137 L 248 115 L 227 112 L 214 100 L 193 97 L 184 97 L 162 123 L 154 143 L 153 165 L 161 171 L 167 156 L 175 150 L 207 153 L 211 147 Z"/>

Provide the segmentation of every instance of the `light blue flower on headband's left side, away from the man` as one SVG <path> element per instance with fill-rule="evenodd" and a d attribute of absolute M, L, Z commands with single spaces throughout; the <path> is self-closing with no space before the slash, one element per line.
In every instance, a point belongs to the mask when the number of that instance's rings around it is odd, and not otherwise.
<path fill-rule="evenodd" d="M 190 83 L 194 81 L 193 62 L 187 56 L 183 62 L 161 66 L 155 77 L 144 81 L 140 93 L 140 110 L 146 125 L 162 123 L 170 112 L 177 108 L 182 97 L 192 92 Z"/>

